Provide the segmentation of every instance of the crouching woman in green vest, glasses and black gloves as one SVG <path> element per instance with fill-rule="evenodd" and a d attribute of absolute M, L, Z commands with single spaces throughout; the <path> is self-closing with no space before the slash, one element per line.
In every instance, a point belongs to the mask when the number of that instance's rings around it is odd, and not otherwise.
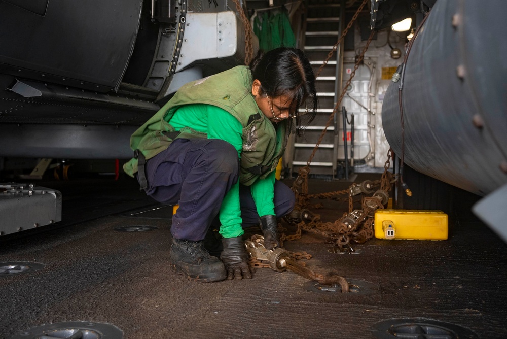
<path fill-rule="evenodd" d="M 242 225 L 259 224 L 279 246 L 276 219 L 294 193 L 275 180 L 293 126 L 315 116 L 315 76 L 299 49 L 260 52 L 249 66 L 190 82 L 132 134 L 124 170 L 155 200 L 178 204 L 171 265 L 202 282 L 251 278 Z M 309 109 L 308 109 L 309 108 Z M 203 245 L 219 228 L 220 259 Z"/>

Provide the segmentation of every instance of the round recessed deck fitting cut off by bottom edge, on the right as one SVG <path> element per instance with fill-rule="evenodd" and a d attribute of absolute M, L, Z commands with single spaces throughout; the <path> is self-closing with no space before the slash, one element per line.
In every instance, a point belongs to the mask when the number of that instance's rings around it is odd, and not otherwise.
<path fill-rule="evenodd" d="M 391 319 L 372 326 L 373 334 L 379 339 L 475 339 L 477 335 L 467 328 L 431 319 Z"/>

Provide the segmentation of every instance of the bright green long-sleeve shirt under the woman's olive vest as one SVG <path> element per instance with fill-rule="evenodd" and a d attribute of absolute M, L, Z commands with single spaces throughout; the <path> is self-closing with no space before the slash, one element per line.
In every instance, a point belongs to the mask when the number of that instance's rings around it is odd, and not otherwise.
<path fill-rule="evenodd" d="M 230 143 L 241 157 L 243 140 L 241 138 L 241 123 L 229 112 L 206 104 L 192 104 L 180 107 L 169 123 L 179 130 L 183 127 L 207 133 L 208 139 L 221 139 Z M 274 215 L 273 186 L 275 172 L 265 179 L 258 179 L 251 186 L 253 201 L 256 203 L 260 216 Z M 240 236 L 244 233 L 241 228 L 241 210 L 239 204 L 239 181 L 226 194 L 220 209 L 220 233 L 224 238 Z"/>

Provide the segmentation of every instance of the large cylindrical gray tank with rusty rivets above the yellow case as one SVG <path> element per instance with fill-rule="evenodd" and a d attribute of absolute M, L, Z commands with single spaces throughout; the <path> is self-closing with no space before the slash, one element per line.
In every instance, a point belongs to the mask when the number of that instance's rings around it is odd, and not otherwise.
<path fill-rule="evenodd" d="M 438 0 L 403 77 L 405 163 L 478 195 L 507 183 L 504 17 L 504 0 Z M 384 132 L 398 156 L 401 82 L 391 82 L 382 107 Z"/>

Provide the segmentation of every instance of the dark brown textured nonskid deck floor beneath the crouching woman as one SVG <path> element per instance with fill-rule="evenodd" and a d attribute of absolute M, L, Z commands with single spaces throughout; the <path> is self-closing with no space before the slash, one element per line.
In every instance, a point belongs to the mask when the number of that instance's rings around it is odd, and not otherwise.
<path fill-rule="evenodd" d="M 257 269 L 251 280 L 188 280 L 170 267 L 172 208 L 144 196 L 135 182 L 44 184 L 62 192 L 62 222 L 1 240 L 0 262 L 44 267 L 0 275 L 0 338 L 70 321 L 112 324 L 125 338 L 373 338 L 386 328 L 391 336 L 385 337 L 394 337 L 414 324 L 464 331 L 455 337 L 507 332 L 507 245 L 470 212 L 474 197 L 460 195 L 447 241 L 373 239 L 356 245 L 355 255 L 328 252 L 330 245 L 314 234 L 285 242 L 290 251 L 312 254 L 305 260 L 312 269 L 358 286 L 357 293 L 341 294 L 270 268 Z M 327 192 L 349 185 L 313 180 L 310 187 Z M 336 220 L 346 206 L 333 204 L 316 212 Z M 388 322 L 393 319 L 401 323 Z"/>

